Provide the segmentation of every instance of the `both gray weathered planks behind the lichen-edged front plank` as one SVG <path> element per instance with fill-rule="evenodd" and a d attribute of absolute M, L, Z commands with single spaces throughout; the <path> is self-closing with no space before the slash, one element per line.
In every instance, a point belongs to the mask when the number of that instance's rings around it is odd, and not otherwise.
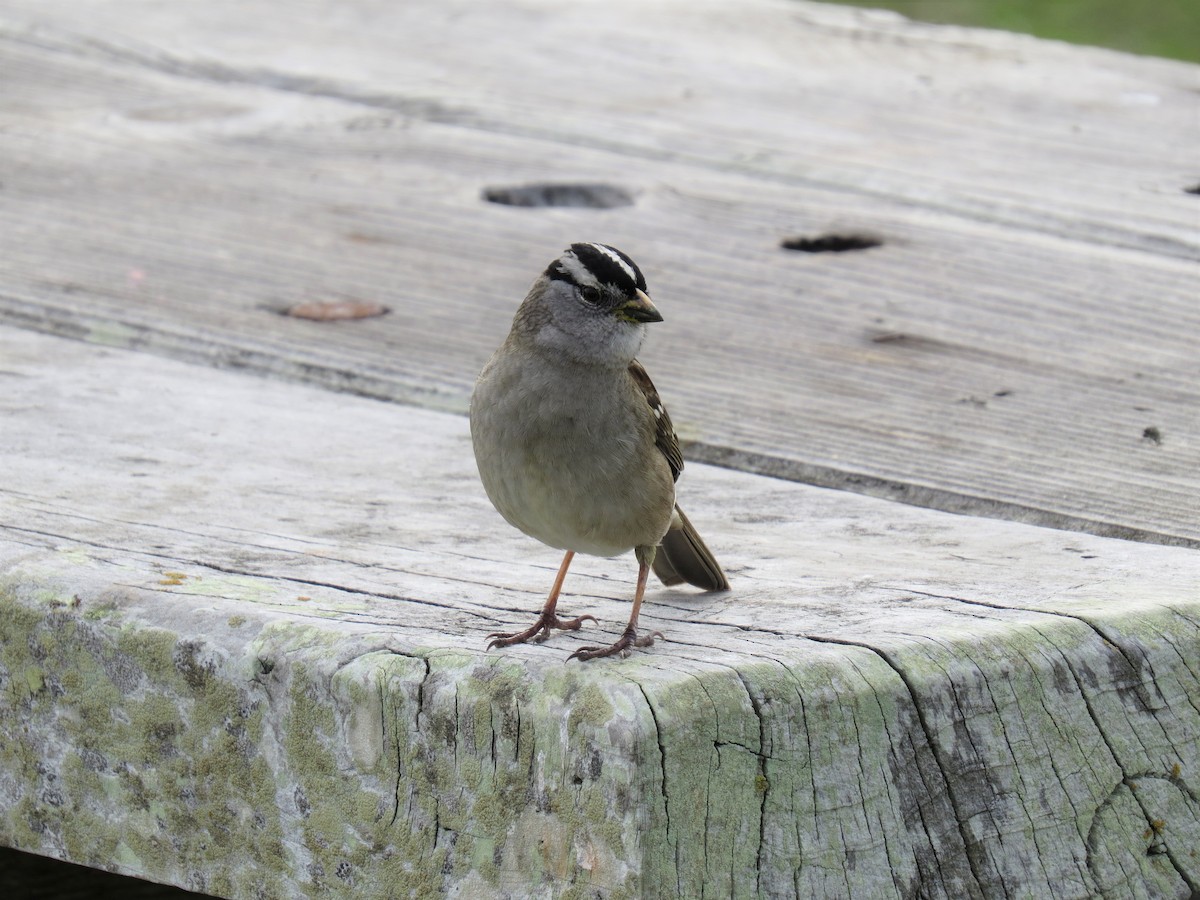
<path fill-rule="evenodd" d="M 0 54 L 5 322 L 461 410 L 600 239 L 691 458 L 1200 546 L 1195 66 L 768 0 L 12 0 Z M 635 203 L 481 199 L 544 181 Z"/>

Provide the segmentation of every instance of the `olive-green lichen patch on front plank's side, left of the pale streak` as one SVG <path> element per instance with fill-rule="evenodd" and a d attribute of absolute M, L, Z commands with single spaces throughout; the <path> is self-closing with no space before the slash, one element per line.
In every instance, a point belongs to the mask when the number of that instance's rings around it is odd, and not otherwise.
<path fill-rule="evenodd" d="M 0 764 L 28 791 L 0 812 L 5 842 L 216 893 L 277 889 L 260 703 L 205 654 L 114 607 L 89 617 L 0 589 Z"/>

